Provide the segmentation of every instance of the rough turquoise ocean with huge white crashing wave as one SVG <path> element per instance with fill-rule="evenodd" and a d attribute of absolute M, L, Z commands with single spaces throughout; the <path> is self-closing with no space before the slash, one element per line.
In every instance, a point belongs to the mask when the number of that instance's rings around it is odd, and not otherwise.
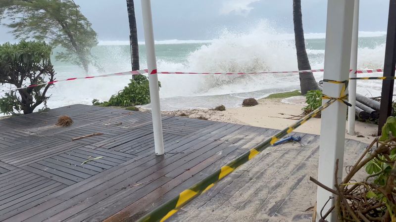
<path fill-rule="evenodd" d="M 384 32 L 359 33 L 358 69 L 383 68 Z M 306 34 L 306 48 L 312 69 L 323 68 L 325 34 Z M 156 42 L 159 71 L 189 72 L 255 72 L 297 70 L 293 34 L 272 34 L 256 29 L 248 33 L 224 31 L 209 41 Z M 131 70 L 129 42 L 100 41 L 92 53 L 101 70 L 90 67 L 86 74 L 80 67 L 51 58 L 57 79 L 84 77 Z M 147 68 L 145 45 L 140 44 L 140 67 Z M 54 51 L 56 52 L 55 49 Z M 323 73 L 315 73 L 320 81 Z M 379 76 L 367 74 L 362 76 Z M 241 106 L 247 97 L 262 98 L 271 93 L 299 89 L 298 75 L 159 75 L 161 109 L 211 108 Z M 71 104 L 92 104 L 93 99 L 106 101 L 129 83 L 130 77 L 109 77 L 55 84 L 49 90 L 49 108 Z M 357 93 L 378 96 L 381 81 L 357 82 Z"/>

